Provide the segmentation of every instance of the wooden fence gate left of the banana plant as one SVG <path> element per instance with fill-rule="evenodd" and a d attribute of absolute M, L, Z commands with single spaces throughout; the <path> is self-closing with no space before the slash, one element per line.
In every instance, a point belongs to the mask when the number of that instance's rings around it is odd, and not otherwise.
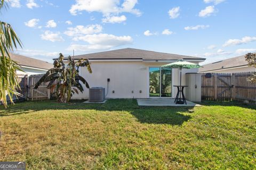
<path fill-rule="evenodd" d="M 47 89 L 47 84 L 43 82 L 37 89 L 34 89 L 35 84 L 43 74 L 30 75 L 28 78 L 28 99 L 29 100 L 45 100 L 50 99 L 51 93 L 50 89 Z"/>

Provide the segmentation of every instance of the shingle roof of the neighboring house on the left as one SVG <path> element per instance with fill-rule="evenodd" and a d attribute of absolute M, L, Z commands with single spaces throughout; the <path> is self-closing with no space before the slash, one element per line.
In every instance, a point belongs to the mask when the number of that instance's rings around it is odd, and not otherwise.
<path fill-rule="evenodd" d="M 45 69 L 45 70 L 49 70 L 53 67 L 53 64 L 42 61 L 42 60 L 37 60 L 35 58 L 30 58 L 30 57 L 26 57 L 18 54 L 11 54 L 10 56 L 13 61 L 17 62 L 21 66 L 34 67 L 37 69 Z"/>

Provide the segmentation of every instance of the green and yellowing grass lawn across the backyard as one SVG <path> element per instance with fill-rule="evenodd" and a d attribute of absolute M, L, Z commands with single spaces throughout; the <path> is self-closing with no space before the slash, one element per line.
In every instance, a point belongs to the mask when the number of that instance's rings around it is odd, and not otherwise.
<path fill-rule="evenodd" d="M 256 169 L 256 107 L 55 101 L 0 106 L 0 161 L 27 169 Z"/>

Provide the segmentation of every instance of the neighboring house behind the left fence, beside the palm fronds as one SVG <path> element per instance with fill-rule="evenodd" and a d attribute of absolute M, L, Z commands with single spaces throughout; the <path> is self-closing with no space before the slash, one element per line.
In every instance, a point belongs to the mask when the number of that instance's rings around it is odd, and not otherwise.
<path fill-rule="evenodd" d="M 11 59 L 20 65 L 22 71 L 17 71 L 17 74 L 44 74 L 47 70 L 53 67 L 53 64 L 37 60 L 35 58 L 26 57 L 18 54 L 11 54 Z"/>

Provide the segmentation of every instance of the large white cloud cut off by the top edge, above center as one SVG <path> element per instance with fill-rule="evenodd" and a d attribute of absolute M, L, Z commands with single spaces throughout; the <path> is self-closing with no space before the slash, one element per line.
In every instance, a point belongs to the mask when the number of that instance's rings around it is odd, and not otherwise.
<path fill-rule="evenodd" d="M 72 15 L 77 15 L 79 11 L 101 12 L 103 15 L 129 12 L 139 16 L 141 12 L 134 8 L 137 3 L 137 0 L 124 0 L 121 5 L 118 0 L 76 0 L 69 12 Z"/>

